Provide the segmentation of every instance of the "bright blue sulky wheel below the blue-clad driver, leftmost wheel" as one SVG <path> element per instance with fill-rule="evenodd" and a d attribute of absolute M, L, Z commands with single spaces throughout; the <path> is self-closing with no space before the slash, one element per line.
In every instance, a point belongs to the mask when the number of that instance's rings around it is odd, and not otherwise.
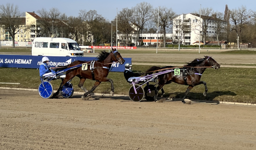
<path fill-rule="evenodd" d="M 51 98 L 53 94 L 53 87 L 50 82 L 43 82 L 38 87 L 38 93 L 42 98 Z"/>

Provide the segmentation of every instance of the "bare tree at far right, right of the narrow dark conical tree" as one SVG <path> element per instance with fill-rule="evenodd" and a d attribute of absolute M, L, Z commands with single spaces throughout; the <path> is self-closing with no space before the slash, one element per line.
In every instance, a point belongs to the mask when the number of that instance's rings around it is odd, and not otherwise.
<path fill-rule="evenodd" d="M 249 24 L 248 16 L 250 10 L 247 10 L 245 6 L 238 7 L 238 9 L 232 9 L 230 11 L 230 21 L 232 22 L 231 29 L 235 30 L 237 35 L 237 44 L 239 48 L 239 35 L 242 29 L 245 28 L 246 24 Z"/>

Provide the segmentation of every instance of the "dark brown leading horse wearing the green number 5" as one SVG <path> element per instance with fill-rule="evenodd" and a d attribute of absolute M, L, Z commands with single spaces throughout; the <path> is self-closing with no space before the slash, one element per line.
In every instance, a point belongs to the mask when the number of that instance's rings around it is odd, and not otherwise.
<path fill-rule="evenodd" d="M 152 71 L 161 72 L 161 71 L 167 71 L 167 70 L 173 70 L 170 73 L 162 74 L 158 76 L 158 87 L 155 91 L 155 101 L 156 101 L 156 95 L 158 91 L 161 89 L 162 94 L 164 94 L 163 86 L 165 84 L 170 84 L 171 82 L 175 82 L 181 85 L 189 85 L 189 87 L 186 89 L 185 95 L 182 99 L 182 102 L 185 103 L 185 97 L 189 93 L 189 91 L 196 85 L 204 84 L 205 91 L 204 96 L 207 94 L 207 86 L 206 82 L 200 81 L 202 74 L 206 70 L 206 68 L 215 68 L 219 69 L 220 65 L 212 59 L 210 56 L 204 56 L 205 58 L 201 59 L 195 59 L 192 62 L 189 62 L 186 66 L 183 66 L 178 72 L 175 73 L 176 67 L 173 66 L 166 66 L 163 68 L 153 66 L 149 68 L 146 72 L 152 74 Z M 166 68 L 166 69 L 165 69 Z M 158 71 L 161 70 L 161 71 Z M 180 74 L 179 74 L 180 73 Z"/>

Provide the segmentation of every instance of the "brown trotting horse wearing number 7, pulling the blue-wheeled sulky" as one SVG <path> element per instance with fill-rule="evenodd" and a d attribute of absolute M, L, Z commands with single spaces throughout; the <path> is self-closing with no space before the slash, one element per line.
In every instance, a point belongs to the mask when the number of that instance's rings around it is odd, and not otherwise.
<path fill-rule="evenodd" d="M 94 91 L 95 88 L 97 88 L 97 86 L 101 84 L 101 82 L 111 83 L 110 94 L 113 96 L 114 95 L 113 80 L 107 78 L 107 75 L 110 71 L 110 67 L 113 62 L 119 62 L 122 65 L 124 64 L 125 60 L 122 58 L 122 56 L 116 49 L 112 48 L 111 53 L 102 51 L 99 54 L 97 61 L 85 62 L 85 61 L 77 60 L 72 62 L 70 65 L 55 69 L 55 71 L 61 71 L 61 70 L 73 67 L 75 65 L 79 65 L 79 64 L 84 65 L 82 67 L 74 68 L 66 72 L 65 79 L 62 81 L 58 91 L 53 95 L 53 97 L 58 97 L 58 94 L 61 88 L 65 85 L 65 83 L 70 79 L 73 79 L 73 77 L 75 76 L 78 76 L 80 78 L 78 87 L 81 88 L 83 91 L 85 91 L 85 94 L 82 96 L 82 100 L 88 100 L 91 97 L 90 93 Z M 87 65 L 87 69 L 85 69 L 86 65 Z M 90 69 L 88 69 L 88 66 L 90 66 Z M 86 90 L 86 88 L 83 87 L 85 79 L 96 80 L 96 82 L 94 83 L 90 91 Z"/>

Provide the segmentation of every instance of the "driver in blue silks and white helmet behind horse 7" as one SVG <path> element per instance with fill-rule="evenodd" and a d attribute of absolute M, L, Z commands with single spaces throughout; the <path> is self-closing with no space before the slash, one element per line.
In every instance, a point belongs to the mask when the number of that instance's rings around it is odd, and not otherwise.
<path fill-rule="evenodd" d="M 46 56 L 42 58 L 42 64 L 40 65 L 39 73 L 40 73 L 40 77 L 55 73 L 55 71 L 52 70 L 52 67 L 49 67 L 49 58 Z M 55 77 L 55 76 L 51 76 L 51 77 Z"/>

